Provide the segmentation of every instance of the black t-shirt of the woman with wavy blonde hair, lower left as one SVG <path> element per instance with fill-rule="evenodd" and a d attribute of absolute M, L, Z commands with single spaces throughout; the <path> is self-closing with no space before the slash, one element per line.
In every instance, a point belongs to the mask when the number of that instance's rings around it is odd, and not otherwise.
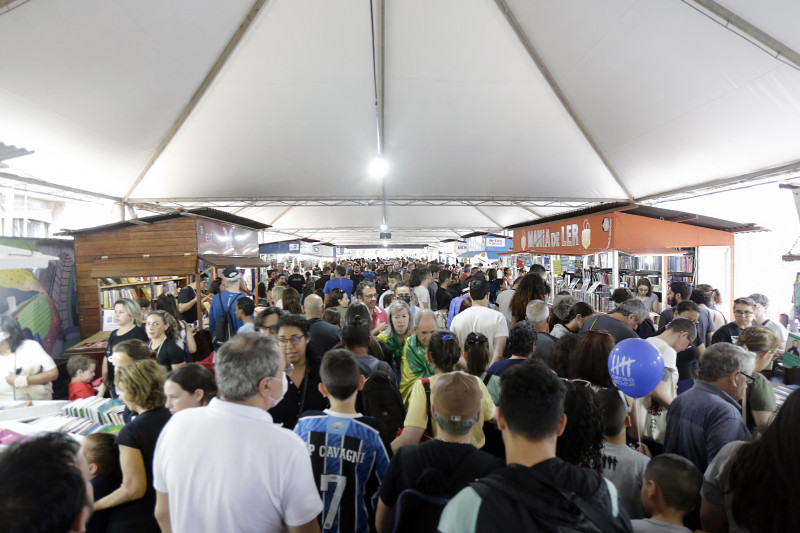
<path fill-rule="evenodd" d="M 114 507 L 109 520 L 109 532 L 159 532 L 153 512 L 156 507 L 156 491 L 153 488 L 153 454 L 161 430 L 169 421 L 169 409 L 161 407 L 145 411 L 130 424 L 123 426 L 117 436 L 119 446 L 136 448 L 142 454 L 147 485 L 144 496 L 132 502 Z"/>

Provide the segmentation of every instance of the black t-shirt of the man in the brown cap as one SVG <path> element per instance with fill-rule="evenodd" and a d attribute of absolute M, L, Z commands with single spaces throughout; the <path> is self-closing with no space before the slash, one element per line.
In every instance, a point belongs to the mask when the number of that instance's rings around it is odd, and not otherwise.
<path fill-rule="evenodd" d="M 426 469 L 438 470 L 447 483 L 447 492 L 455 495 L 468 483 L 504 466 L 502 460 L 479 450 L 471 443 L 431 439 L 421 444 L 403 446 L 392 457 L 381 484 L 381 500 L 394 507 L 406 489 L 427 489 L 421 479 Z"/>

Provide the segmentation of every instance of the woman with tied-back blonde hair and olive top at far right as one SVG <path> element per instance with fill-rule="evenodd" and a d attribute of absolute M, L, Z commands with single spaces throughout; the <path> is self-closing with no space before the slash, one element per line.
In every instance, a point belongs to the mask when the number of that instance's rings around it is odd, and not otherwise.
<path fill-rule="evenodd" d="M 739 334 L 736 344 L 756 354 L 756 366 L 751 376 L 753 379 L 748 380 L 750 383 L 747 384 L 742 409 L 747 429 L 756 437 L 767 430 L 777 408 L 775 391 L 761 371 L 772 363 L 779 340 L 768 327 L 750 326 Z"/>

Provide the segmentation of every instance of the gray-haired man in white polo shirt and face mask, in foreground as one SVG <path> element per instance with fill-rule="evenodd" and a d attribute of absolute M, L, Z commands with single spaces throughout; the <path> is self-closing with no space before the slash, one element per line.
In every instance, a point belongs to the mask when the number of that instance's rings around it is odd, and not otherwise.
<path fill-rule="evenodd" d="M 276 341 L 236 335 L 215 370 L 218 397 L 175 413 L 156 444 L 161 531 L 319 532 L 322 501 L 305 443 L 267 412 L 291 372 Z"/>

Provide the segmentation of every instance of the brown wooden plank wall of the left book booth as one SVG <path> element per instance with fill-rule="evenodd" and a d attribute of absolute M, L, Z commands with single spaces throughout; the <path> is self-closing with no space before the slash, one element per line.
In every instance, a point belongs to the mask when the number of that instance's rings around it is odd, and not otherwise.
<path fill-rule="evenodd" d="M 143 255 L 149 254 L 149 258 Z M 101 260 L 107 256 L 107 260 Z M 107 262 L 106 262 L 107 261 Z M 197 270 L 195 219 L 177 218 L 75 236 L 75 273 L 81 339 L 100 331 L 97 278 L 186 276 Z M 93 272 L 94 269 L 94 272 Z"/>

